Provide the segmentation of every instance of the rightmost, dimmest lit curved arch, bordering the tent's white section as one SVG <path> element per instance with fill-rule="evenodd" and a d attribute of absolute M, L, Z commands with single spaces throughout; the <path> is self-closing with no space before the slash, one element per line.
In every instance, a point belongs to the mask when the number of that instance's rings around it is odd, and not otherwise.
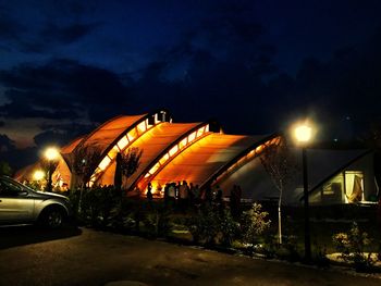
<path fill-rule="evenodd" d="M 218 171 L 216 171 L 201 186 L 200 188 L 206 188 L 208 185 L 213 185 L 220 182 L 224 176 L 229 175 L 234 169 L 239 167 L 245 164 L 249 160 L 258 157 L 263 148 L 270 145 L 279 145 L 281 142 L 280 134 L 272 134 L 267 136 L 259 141 L 256 141 L 250 147 L 246 148 L 242 152 L 239 152 L 236 157 L 221 166 Z"/>

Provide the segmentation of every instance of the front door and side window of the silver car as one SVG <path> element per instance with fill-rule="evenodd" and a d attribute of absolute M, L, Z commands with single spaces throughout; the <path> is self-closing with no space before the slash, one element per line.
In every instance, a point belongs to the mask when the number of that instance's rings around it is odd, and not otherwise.
<path fill-rule="evenodd" d="M 0 222 L 22 223 L 33 220 L 35 200 L 27 189 L 10 179 L 0 179 Z"/>

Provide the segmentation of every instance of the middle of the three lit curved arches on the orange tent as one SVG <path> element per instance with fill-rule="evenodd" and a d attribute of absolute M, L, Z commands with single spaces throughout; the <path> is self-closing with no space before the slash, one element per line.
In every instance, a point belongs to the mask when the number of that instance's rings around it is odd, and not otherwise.
<path fill-rule="evenodd" d="M 216 122 L 207 121 L 196 125 L 192 129 L 184 133 L 179 139 L 174 140 L 169 147 L 163 149 L 161 153 L 155 160 L 152 160 L 151 163 L 133 182 L 131 188 L 138 186 L 139 189 L 145 189 L 147 184 L 152 181 L 155 176 L 175 157 L 181 154 L 182 151 L 199 139 L 208 136 L 210 134 L 210 124 L 216 124 Z"/>

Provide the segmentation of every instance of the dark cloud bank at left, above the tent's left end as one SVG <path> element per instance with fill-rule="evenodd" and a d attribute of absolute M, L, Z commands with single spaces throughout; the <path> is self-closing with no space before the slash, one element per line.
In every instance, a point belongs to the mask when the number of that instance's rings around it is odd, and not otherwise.
<path fill-rule="evenodd" d="M 116 74 L 70 60 L 0 71 L 0 84 L 9 100 L 0 105 L 0 114 L 9 119 L 88 115 L 90 121 L 102 121 L 125 110 L 131 100 Z"/>

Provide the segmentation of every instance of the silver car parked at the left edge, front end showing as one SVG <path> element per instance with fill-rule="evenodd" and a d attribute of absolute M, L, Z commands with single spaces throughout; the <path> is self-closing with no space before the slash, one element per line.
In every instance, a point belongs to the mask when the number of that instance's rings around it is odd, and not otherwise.
<path fill-rule="evenodd" d="M 0 224 L 39 224 L 59 228 L 72 214 L 67 197 L 34 190 L 0 176 Z"/>

